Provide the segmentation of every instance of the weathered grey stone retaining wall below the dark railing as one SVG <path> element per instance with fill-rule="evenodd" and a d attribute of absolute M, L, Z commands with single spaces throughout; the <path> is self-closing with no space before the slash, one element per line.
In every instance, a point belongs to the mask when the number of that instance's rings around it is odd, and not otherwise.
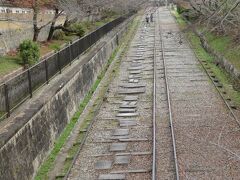
<path fill-rule="evenodd" d="M 49 97 L 48 102 L 40 105 L 39 109 L 36 108 L 37 104 L 33 103 L 30 112 L 21 112 L 15 123 L 9 124 L 9 130 L 0 134 L 0 179 L 27 180 L 34 177 L 53 148 L 54 141 L 69 123 L 116 49 L 118 40 L 122 39 L 128 29 L 128 24 L 129 22 L 122 24 L 117 34 L 110 32 L 111 40 L 104 42 L 94 53 L 89 52 L 89 55 L 80 61 L 86 63 L 73 66 L 77 68 L 76 73 L 73 77 L 66 74 L 60 79 L 60 83 L 66 83 L 55 95 Z M 52 86 L 56 88 L 56 85 Z M 29 117 L 31 113 L 33 115 Z"/>

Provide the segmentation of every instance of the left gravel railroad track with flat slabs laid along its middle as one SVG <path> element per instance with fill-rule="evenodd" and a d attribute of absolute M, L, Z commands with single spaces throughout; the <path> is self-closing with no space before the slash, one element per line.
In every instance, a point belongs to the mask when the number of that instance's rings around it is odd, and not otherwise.
<path fill-rule="evenodd" d="M 120 69 L 116 80 L 119 83 L 110 85 L 108 100 L 88 129 L 88 137 L 65 179 L 156 179 L 156 129 L 155 119 L 151 119 L 155 117 L 151 113 L 156 113 L 156 106 L 151 106 L 156 100 L 149 99 L 156 51 L 154 28 L 153 24 L 145 26 L 143 17 L 132 51 L 122 62 L 123 73 Z"/>

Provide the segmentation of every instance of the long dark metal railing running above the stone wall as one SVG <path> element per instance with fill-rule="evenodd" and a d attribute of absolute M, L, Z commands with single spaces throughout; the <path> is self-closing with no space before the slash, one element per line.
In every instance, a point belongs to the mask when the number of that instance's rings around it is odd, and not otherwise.
<path fill-rule="evenodd" d="M 56 74 L 71 64 L 84 51 L 95 44 L 114 27 L 129 18 L 131 14 L 121 16 L 88 35 L 70 43 L 60 51 L 40 61 L 33 67 L 0 85 L 0 120 L 10 116 L 11 112 L 25 100 L 33 96 L 39 87 L 48 84 Z"/>

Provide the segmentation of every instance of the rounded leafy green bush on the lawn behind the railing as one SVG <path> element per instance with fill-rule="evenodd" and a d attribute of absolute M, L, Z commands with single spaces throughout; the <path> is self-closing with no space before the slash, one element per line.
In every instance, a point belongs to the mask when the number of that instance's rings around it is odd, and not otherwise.
<path fill-rule="evenodd" d="M 40 57 L 39 46 L 31 40 L 24 40 L 20 46 L 20 57 L 24 67 L 31 66 L 38 62 Z"/>

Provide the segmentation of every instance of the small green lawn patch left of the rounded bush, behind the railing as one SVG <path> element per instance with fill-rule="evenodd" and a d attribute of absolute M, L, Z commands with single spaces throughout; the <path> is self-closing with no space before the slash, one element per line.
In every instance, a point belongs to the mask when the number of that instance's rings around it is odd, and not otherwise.
<path fill-rule="evenodd" d="M 4 76 L 21 67 L 19 56 L 0 57 L 0 76 Z"/>

